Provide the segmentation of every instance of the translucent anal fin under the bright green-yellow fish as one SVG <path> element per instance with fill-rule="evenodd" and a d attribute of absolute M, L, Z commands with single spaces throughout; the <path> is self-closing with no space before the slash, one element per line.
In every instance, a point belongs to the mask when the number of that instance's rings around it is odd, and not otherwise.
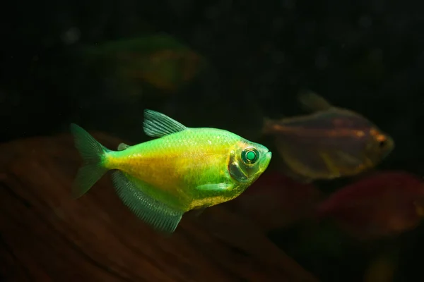
<path fill-rule="evenodd" d="M 112 182 L 122 202 L 129 207 L 131 212 L 156 231 L 173 233 L 182 219 L 183 211 L 168 207 L 167 204 L 153 199 L 143 192 L 145 187 L 141 181 L 135 181 L 126 176 L 122 171 L 112 173 Z M 147 185 L 147 184 L 146 184 Z"/>

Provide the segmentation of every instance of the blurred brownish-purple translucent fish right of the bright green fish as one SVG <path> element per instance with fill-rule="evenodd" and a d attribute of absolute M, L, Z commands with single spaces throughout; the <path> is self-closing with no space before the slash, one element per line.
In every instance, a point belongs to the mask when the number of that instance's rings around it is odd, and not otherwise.
<path fill-rule="evenodd" d="M 353 176 L 376 166 L 394 148 L 392 138 L 364 116 L 311 92 L 299 100 L 314 113 L 264 121 L 263 132 L 276 137 L 291 176 L 305 182 Z"/>

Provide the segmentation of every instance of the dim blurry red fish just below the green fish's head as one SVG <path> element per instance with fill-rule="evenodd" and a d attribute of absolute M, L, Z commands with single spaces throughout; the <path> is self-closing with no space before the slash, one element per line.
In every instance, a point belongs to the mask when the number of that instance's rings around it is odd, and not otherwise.
<path fill-rule="evenodd" d="M 266 171 L 233 204 L 264 231 L 287 226 L 305 218 L 319 202 L 320 191 L 298 183 L 278 171 Z"/>

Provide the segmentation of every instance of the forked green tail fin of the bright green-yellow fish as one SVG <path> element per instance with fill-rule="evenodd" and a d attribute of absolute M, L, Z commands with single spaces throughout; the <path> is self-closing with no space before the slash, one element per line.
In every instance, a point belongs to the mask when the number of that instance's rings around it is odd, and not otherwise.
<path fill-rule="evenodd" d="M 71 123 L 70 129 L 75 147 L 83 158 L 83 166 L 78 169 L 72 187 L 73 197 L 78 198 L 88 192 L 108 171 L 102 165 L 102 160 L 105 157 L 105 153 L 110 150 L 101 145 L 90 133 L 75 123 Z"/>

